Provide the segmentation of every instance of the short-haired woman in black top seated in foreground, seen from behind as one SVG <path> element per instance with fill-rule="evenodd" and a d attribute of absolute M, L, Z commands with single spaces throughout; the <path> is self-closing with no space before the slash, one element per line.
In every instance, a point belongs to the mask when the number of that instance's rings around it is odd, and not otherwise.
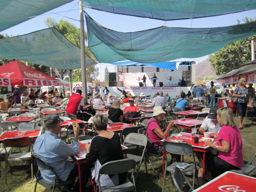
<path fill-rule="evenodd" d="M 107 131 L 108 118 L 104 115 L 96 115 L 93 125 L 98 136 L 92 138 L 92 142 L 86 144 L 86 161 L 89 165 L 95 163 L 91 168 L 92 179 L 98 180 L 98 170 L 110 161 L 124 158 L 121 141 L 117 133 Z M 103 187 L 112 187 L 122 184 L 126 179 L 126 172 L 112 175 L 101 175 L 100 184 Z"/>

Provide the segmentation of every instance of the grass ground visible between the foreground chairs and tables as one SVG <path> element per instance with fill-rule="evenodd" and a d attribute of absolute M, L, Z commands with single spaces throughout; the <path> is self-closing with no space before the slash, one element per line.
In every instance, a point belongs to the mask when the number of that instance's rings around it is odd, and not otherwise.
<path fill-rule="evenodd" d="M 170 117 L 167 117 L 167 119 L 171 120 Z M 234 117 L 236 123 L 238 124 L 238 118 Z M 254 125 L 251 125 L 251 118 L 248 118 L 248 120 L 245 122 L 244 120 L 245 128 L 241 130 L 242 135 L 242 142 L 243 142 L 243 156 L 244 161 L 248 162 L 248 160 L 251 158 L 252 154 L 256 150 L 256 118 L 254 118 Z M 154 158 L 154 167 L 160 168 L 162 166 L 162 158 Z M 191 162 L 192 158 L 189 156 L 184 157 L 184 162 Z M 34 191 L 35 182 L 29 183 L 30 178 L 30 170 L 28 171 L 22 171 L 17 172 L 19 175 L 12 175 L 8 173 L 8 183 L 12 183 L 15 185 L 7 186 L 5 184 L 5 166 L 4 162 L 1 162 L 1 178 L 0 178 L 0 192 L 31 192 Z M 149 165 L 149 164 L 148 164 Z M 142 166 L 143 168 L 144 166 Z M 148 166 L 148 178 L 137 178 L 136 181 L 136 188 L 138 192 L 147 192 L 147 191 L 154 191 L 154 192 L 160 192 L 162 191 L 162 174 L 158 174 L 159 177 L 156 179 L 154 176 L 154 173 L 152 172 L 151 168 Z M 15 173 L 16 174 L 16 173 Z M 146 176 L 145 170 L 142 170 L 140 172 L 141 176 Z M 254 170 L 250 176 L 256 177 L 256 170 Z M 189 178 L 191 180 L 191 178 Z M 91 184 L 88 182 L 87 184 L 88 189 L 91 188 Z M 48 192 L 50 190 L 46 190 L 46 188 L 38 185 L 37 190 L 40 192 Z M 59 191 L 58 189 L 56 191 Z M 166 179 L 165 184 L 165 191 L 167 192 L 176 192 L 176 188 L 172 186 L 172 183 L 170 181 L 170 177 L 168 176 Z M 184 191 L 188 191 L 184 189 Z"/>

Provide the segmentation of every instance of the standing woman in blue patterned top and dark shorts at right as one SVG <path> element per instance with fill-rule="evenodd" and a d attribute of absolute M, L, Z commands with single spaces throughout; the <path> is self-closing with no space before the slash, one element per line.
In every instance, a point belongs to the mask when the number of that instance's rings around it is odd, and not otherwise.
<path fill-rule="evenodd" d="M 240 80 L 238 82 L 238 86 L 234 90 L 233 97 L 238 97 L 236 107 L 238 110 L 239 129 L 243 129 L 244 126 L 242 125 L 242 122 L 243 122 L 243 119 L 245 117 L 245 113 L 247 110 L 247 103 L 248 103 L 248 101 L 251 102 L 249 90 L 246 87 L 245 78 L 240 78 Z"/>

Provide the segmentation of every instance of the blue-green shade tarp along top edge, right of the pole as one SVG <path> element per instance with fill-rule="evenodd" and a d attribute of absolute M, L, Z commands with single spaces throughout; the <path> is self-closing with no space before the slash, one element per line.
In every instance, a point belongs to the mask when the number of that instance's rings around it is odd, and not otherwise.
<path fill-rule="evenodd" d="M 82 6 L 159 20 L 217 16 L 256 9 L 252 0 L 83 0 Z"/>

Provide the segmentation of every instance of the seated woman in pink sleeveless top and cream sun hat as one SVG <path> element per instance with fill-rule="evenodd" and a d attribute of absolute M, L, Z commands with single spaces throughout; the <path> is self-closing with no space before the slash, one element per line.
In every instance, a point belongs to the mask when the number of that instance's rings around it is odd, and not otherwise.
<path fill-rule="evenodd" d="M 168 126 L 162 131 L 159 122 L 164 119 L 164 110 L 161 106 L 155 106 L 153 109 L 153 117 L 148 121 L 147 132 L 148 139 L 153 142 L 150 148 L 147 148 L 148 152 L 152 154 L 163 154 L 163 146 L 160 143 L 160 140 L 166 139 L 170 135 L 170 129 L 174 125 L 173 122 L 170 122 Z M 171 164 L 173 162 L 180 162 L 180 155 L 172 154 Z"/>

